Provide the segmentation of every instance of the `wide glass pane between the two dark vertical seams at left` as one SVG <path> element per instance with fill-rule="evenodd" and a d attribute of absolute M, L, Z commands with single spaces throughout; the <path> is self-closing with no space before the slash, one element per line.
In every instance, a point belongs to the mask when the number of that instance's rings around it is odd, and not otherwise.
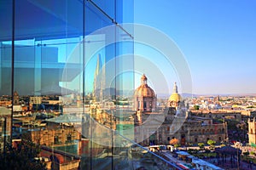
<path fill-rule="evenodd" d="M 66 108 L 83 99 L 78 96 L 83 91 L 84 7 L 79 1 L 16 2 L 15 91 L 26 108 L 14 105 L 13 139 L 28 135 L 52 167 L 67 166 L 61 160 L 79 167 L 80 134 Z M 69 59 L 75 48 L 78 53 Z"/>

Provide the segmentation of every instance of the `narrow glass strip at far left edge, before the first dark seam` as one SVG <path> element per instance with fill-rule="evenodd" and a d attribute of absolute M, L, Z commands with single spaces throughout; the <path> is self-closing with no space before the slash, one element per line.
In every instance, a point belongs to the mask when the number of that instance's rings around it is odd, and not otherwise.
<path fill-rule="evenodd" d="M 12 1 L 0 1 L 0 153 L 11 135 L 12 106 Z"/>

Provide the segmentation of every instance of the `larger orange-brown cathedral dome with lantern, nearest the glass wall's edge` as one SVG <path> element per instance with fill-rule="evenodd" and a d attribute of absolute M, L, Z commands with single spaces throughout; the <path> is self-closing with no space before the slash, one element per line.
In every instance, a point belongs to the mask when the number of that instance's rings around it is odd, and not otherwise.
<path fill-rule="evenodd" d="M 143 74 L 143 77 L 141 77 L 141 85 L 135 90 L 135 97 L 154 97 L 154 90 L 148 86 L 147 80 L 148 78 Z"/>

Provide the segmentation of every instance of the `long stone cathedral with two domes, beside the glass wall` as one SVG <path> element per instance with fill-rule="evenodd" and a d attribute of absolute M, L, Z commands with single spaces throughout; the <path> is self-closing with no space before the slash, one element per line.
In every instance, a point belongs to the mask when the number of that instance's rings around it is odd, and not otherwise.
<path fill-rule="evenodd" d="M 143 146 L 169 144 L 171 139 L 178 139 L 179 144 L 207 144 L 212 139 L 224 142 L 227 136 L 226 123 L 212 123 L 212 118 L 191 116 L 184 100 L 174 83 L 173 92 L 166 108 L 157 108 L 157 95 L 148 86 L 146 75 L 141 77 L 141 85 L 134 93 L 134 138 Z"/>

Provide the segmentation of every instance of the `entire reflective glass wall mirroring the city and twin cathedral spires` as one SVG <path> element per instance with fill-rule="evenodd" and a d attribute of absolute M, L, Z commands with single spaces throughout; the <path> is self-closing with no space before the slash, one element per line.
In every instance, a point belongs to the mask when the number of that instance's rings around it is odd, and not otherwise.
<path fill-rule="evenodd" d="M 125 158 L 134 144 L 132 27 L 109 18 L 123 20 L 125 3 L 94 3 L 103 11 L 90 1 L 20 0 L 12 16 L 12 3 L 0 2 L 1 147 L 13 129 L 15 142 L 40 144 L 54 168 L 115 169 L 134 159 Z"/>

